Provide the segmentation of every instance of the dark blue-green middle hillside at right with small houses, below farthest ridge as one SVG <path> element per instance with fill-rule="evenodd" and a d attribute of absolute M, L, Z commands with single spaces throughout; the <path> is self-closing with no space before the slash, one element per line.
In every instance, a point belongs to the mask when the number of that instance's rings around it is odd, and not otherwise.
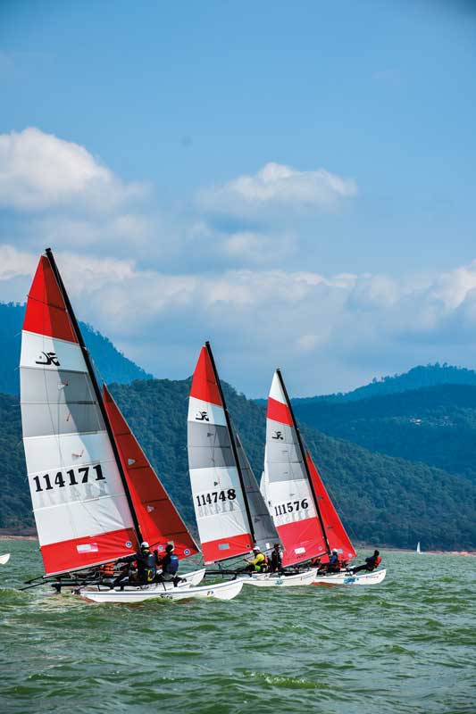
<path fill-rule="evenodd" d="M 296 415 L 372 452 L 424 461 L 476 483 L 476 386 L 439 385 L 358 402 L 297 402 Z"/>

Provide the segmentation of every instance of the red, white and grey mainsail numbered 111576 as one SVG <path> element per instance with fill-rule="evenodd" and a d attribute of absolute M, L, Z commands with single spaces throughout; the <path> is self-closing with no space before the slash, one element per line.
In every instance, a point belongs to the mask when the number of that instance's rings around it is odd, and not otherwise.
<path fill-rule="evenodd" d="M 296 425 L 278 371 L 268 397 L 262 493 L 284 546 L 284 565 L 327 552 Z"/>

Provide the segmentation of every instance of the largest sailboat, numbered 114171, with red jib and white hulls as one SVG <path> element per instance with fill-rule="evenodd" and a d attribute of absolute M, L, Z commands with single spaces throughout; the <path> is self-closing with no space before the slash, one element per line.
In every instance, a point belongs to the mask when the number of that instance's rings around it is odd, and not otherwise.
<path fill-rule="evenodd" d="M 104 584 L 104 564 L 136 552 L 146 537 L 159 551 L 173 540 L 183 558 L 198 548 L 111 394 L 101 393 L 50 249 L 29 290 L 20 374 L 23 444 L 45 568 L 28 584 L 46 581 L 58 592 L 72 586 L 88 599 L 128 602 Z M 228 596 L 226 589 L 207 595 L 209 587 L 192 587 L 200 572 L 172 591 L 164 584 L 132 586 L 135 601 L 180 599 L 185 588 L 188 597 Z"/>

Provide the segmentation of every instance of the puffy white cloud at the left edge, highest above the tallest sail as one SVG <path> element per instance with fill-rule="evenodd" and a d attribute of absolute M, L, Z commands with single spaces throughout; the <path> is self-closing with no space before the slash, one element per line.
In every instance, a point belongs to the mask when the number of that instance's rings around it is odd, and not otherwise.
<path fill-rule="evenodd" d="M 53 134 L 29 128 L 0 135 L 0 206 L 106 212 L 144 191 L 138 184 L 123 184 L 83 146 Z"/>

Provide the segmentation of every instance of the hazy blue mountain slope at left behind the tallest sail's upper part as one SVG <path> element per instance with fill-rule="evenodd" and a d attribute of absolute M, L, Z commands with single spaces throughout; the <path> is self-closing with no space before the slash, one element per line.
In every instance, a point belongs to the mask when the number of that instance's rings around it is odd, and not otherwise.
<path fill-rule="evenodd" d="M 5 394 L 18 394 L 20 391 L 18 364 L 24 314 L 24 305 L 0 303 L 0 350 L 3 355 L 0 392 Z M 133 379 L 152 377 L 118 352 L 107 337 L 84 322 L 79 325 L 96 367 L 106 382 L 131 382 Z"/>

